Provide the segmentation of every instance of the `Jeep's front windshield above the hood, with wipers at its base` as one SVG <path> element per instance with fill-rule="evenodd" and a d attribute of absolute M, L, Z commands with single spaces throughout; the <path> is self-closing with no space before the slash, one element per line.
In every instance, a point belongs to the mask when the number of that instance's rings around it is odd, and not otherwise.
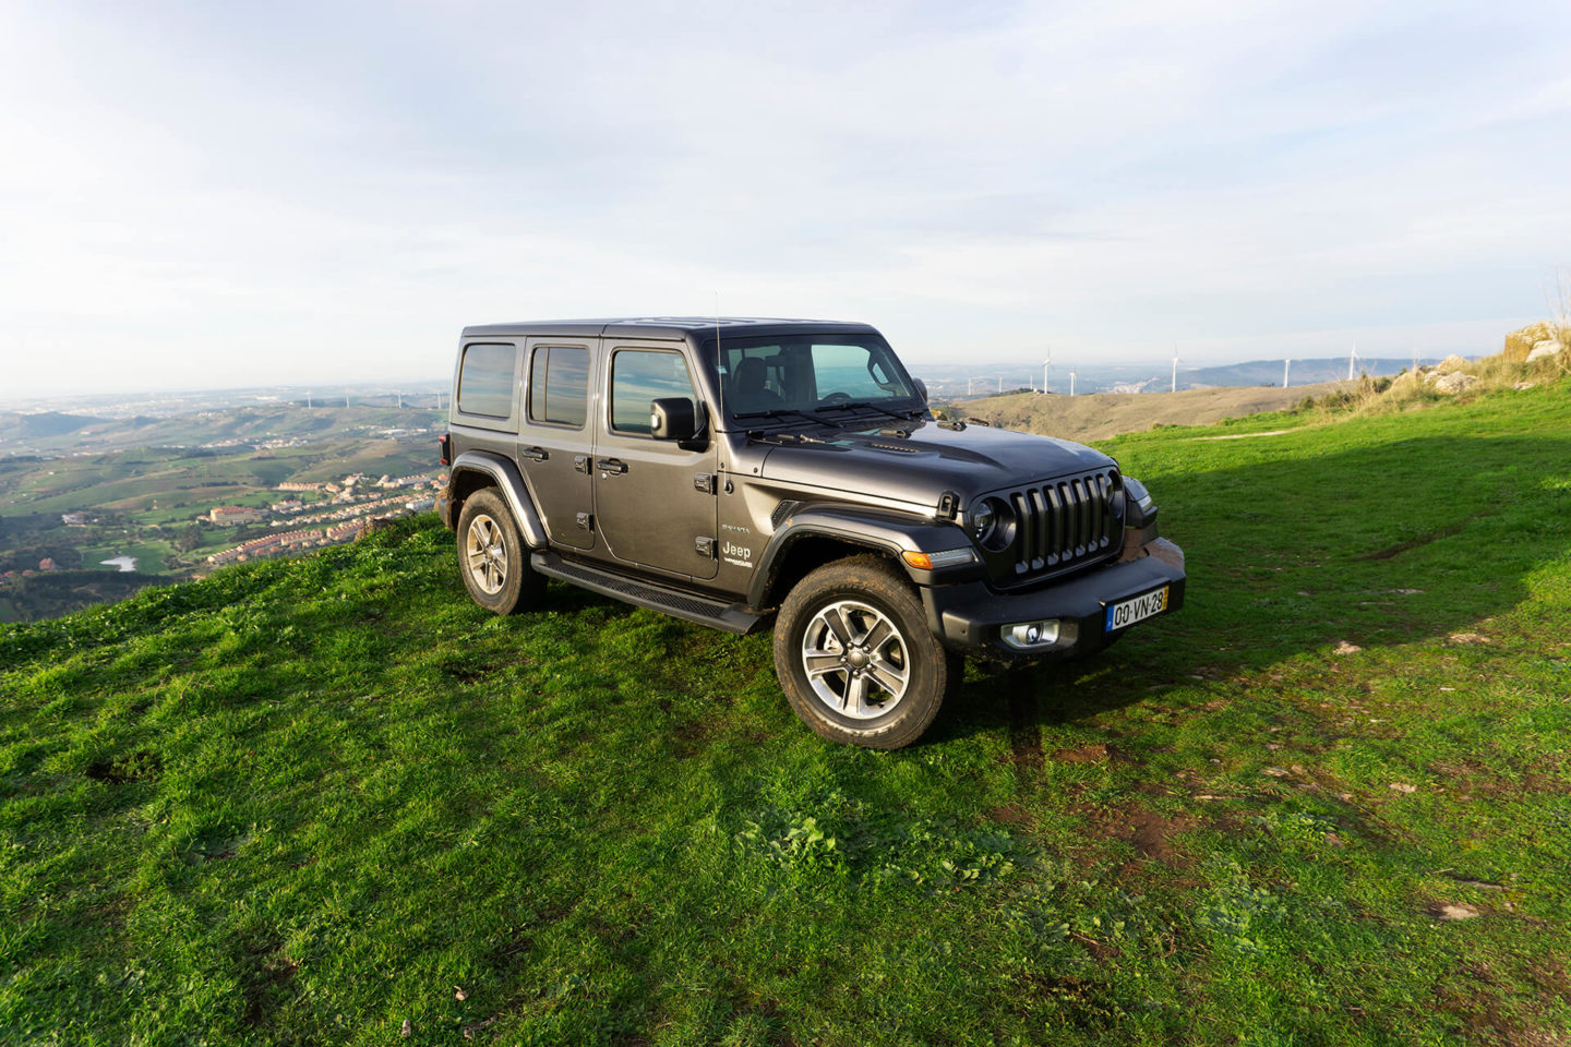
<path fill-rule="evenodd" d="M 726 416 L 748 429 L 800 425 L 803 416 L 842 422 L 858 408 L 922 408 L 905 367 L 877 334 L 723 337 L 718 364 Z"/>

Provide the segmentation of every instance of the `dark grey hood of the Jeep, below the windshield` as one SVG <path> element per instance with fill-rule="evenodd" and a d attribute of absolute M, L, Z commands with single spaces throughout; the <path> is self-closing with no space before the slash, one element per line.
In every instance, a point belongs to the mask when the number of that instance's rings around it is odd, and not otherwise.
<path fill-rule="evenodd" d="M 897 430 L 910 436 L 894 435 Z M 943 429 L 930 421 L 873 422 L 842 429 L 825 443 L 775 446 L 764 479 L 848 490 L 922 505 L 944 491 L 961 501 L 1065 472 L 1087 472 L 1112 458 L 1084 444 L 1009 429 Z"/>

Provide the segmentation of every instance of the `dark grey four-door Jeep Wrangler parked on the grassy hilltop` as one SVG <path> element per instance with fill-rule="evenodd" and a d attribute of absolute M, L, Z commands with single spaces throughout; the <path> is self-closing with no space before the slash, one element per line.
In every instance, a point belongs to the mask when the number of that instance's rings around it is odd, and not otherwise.
<path fill-rule="evenodd" d="M 470 596 L 556 578 L 731 633 L 823 738 L 916 741 L 965 655 L 1101 650 L 1183 603 L 1150 494 L 1090 447 L 935 421 L 864 323 L 470 327 L 448 487 Z"/>

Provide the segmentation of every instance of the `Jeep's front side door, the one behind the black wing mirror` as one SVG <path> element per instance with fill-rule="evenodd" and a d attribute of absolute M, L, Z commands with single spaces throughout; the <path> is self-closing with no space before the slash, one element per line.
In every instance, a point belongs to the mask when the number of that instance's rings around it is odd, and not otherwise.
<path fill-rule="evenodd" d="M 610 344 L 594 449 L 595 524 L 611 557 L 694 579 L 720 570 L 718 499 L 710 436 L 682 446 L 649 435 L 649 402 L 688 397 L 702 407 L 683 347 Z"/>

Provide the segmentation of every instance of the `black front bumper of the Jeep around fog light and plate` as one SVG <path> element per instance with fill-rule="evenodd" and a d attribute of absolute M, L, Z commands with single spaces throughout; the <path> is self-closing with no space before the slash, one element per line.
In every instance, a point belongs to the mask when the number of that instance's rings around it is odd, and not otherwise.
<path fill-rule="evenodd" d="M 1035 592 L 1001 593 L 987 582 L 938 586 L 922 589 L 922 604 L 928 628 L 952 650 L 1007 658 L 1068 658 L 1109 644 L 1104 631 L 1109 604 L 1167 586 L 1167 609 L 1155 617 L 1181 607 L 1183 567 L 1183 549 L 1153 537 L 1144 545 L 1128 545 L 1123 557 L 1112 564 Z M 1001 631 L 1005 625 L 1040 618 L 1059 620 L 1059 637 L 1051 645 L 1027 653 L 1004 644 Z"/>

